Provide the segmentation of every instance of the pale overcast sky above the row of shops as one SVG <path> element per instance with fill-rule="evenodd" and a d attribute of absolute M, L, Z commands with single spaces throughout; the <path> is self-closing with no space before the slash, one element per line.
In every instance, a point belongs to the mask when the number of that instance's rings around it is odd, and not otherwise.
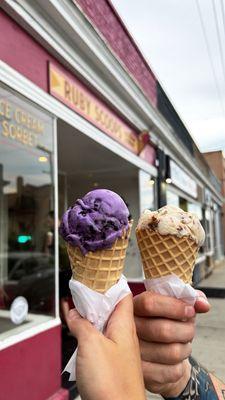
<path fill-rule="evenodd" d="M 225 0 L 113 4 L 200 149 L 225 150 Z"/>

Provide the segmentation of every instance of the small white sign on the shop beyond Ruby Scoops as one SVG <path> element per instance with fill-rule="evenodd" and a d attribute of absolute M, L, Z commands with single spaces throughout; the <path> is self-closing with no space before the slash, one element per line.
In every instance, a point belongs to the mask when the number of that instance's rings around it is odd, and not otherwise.
<path fill-rule="evenodd" d="M 190 196 L 198 197 L 198 186 L 197 183 L 184 172 L 173 160 L 170 160 L 170 174 L 172 183 L 188 193 Z"/>

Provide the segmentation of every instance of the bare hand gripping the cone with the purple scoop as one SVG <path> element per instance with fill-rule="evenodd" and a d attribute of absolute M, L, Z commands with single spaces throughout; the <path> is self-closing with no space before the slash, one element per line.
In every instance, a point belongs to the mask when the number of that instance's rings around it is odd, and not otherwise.
<path fill-rule="evenodd" d="M 145 389 L 132 296 L 116 306 L 104 335 L 73 309 L 65 312 L 78 340 L 77 385 L 83 400 L 143 400 Z"/>

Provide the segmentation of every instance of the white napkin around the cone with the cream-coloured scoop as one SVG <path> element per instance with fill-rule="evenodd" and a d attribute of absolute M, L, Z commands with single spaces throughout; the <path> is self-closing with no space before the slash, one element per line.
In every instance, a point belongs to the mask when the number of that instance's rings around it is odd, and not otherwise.
<path fill-rule="evenodd" d="M 197 299 L 196 290 L 173 274 L 156 279 L 145 279 L 144 284 L 146 290 L 152 290 L 159 294 L 176 297 L 192 306 L 195 304 Z"/>

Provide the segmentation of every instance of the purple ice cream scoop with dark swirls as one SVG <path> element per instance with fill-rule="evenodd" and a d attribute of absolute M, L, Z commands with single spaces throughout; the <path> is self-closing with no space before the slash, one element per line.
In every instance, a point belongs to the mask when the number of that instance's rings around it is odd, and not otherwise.
<path fill-rule="evenodd" d="M 64 213 L 59 233 L 83 254 L 110 248 L 128 230 L 128 215 L 118 194 L 107 189 L 93 190 Z"/>

